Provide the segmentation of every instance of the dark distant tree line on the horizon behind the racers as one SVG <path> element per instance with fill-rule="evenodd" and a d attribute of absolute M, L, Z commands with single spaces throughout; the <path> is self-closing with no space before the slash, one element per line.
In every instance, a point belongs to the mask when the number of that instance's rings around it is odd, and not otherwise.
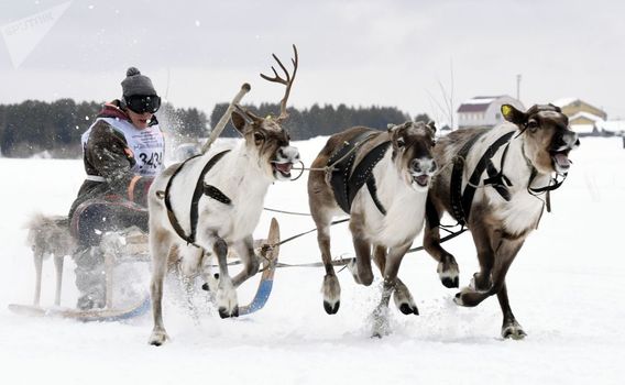
<path fill-rule="evenodd" d="M 75 102 L 59 99 L 53 102 L 26 100 L 15 105 L 0 105 L 0 155 L 29 157 L 46 152 L 51 157 L 78 157 L 80 135 L 92 124 L 102 103 L 95 101 Z M 156 117 L 174 143 L 206 138 L 209 127 L 217 124 L 227 103 L 215 106 L 209 117 L 196 108 L 175 108 L 171 103 L 162 106 Z M 260 117 L 279 114 L 279 105 L 262 103 L 244 106 Z M 314 105 L 304 110 L 288 109 L 289 118 L 285 127 L 294 140 L 306 140 L 318 135 L 331 135 L 354 125 L 365 125 L 380 130 L 388 123 L 402 123 L 410 117 L 394 107 L 338 107 Z M 427 114 L 418 114 L 415 120 L 428 121 Z M 223 136 L 235 138 L 238 133 L 231 123 Z"/>

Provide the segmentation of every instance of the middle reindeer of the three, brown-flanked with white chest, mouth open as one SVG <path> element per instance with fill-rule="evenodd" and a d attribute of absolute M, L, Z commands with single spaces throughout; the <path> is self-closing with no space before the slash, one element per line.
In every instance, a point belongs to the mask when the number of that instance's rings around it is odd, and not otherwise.
<path fill-rule="evenodd" d="M 418 315 L 397 272 L 423 229 L 428 184 L 437 168 L 431 155 L 435 132 L 434 123 L 423 122 L 388 124 L 384 132 L 352 128 L 330 136 L 311 166 L 308 198 L 326 267 L 324 308 L 333 315 L 340 306 L 341 289 L 330 254 L 330 221 L 347 212 L 357 255 L 350 264 L 353 278 L 371 285 L 372 248 L 384 277 L 382 299 L 373 312 L 376 337 L 386 332 L 391 294 L 403 314 Z M 360 188 L 365 184 L 368 188 Z"/>

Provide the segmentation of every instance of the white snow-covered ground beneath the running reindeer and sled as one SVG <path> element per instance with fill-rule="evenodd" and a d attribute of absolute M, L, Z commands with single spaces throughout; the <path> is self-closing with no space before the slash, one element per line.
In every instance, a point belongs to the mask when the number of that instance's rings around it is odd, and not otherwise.
<path fill-rule="evenodd" d="M 307 164 L 322 143 L 297 144 Z M 392 305 L 393 333 L 382 340 L 369 338 L 366 322 L 380 296 L 379 278 L 361 287 L 340 273 L 341 309 L 330 317 L 321 305 L 322 270 L 289 268 L 277 272 L 267 306 L 240 319 L 202 314 L 196 322 L 168 292 L 164 317 L 172 341 L 153 348 L 146 343 L 149 316 L 80 323 L 7 309 L 32 300 L 34 267 L 21 226 L 35 211 L 65 213 L 83 167 L 79 161 L 0 158 L 0 383 L 622 384 L 625 150 L 621 139 L 584 139 L 572 160 L 569 179 L 552 195 L 553 212 L 545 215 L 508 274 L 513 309 L 529 334 L 524 341 L 500 339 L 495 298 L 472 309 L 453 305 L 457 290 L 439 283 L 434 260 L 419 252 L 404 260 L 401 276 L 421 315 L 404 316 Z M 266 206 L 306 211 L 305 179 L 272 186 Z M 261 219 L 257 237 L 266 233 L 268 219 Z M 278 220 L 283 238 L 314 227 L 305 217 Z M 333 254 L 351 255 L 346 227 L 332 235 Z M 470 235 L 447 248 L 467 285 L 476 271 Z M 318 261 L 315 237 L 284 245 L 281 258 Z M 68 260 L 66 306 L 76 299 L 73 270 Z M 44 304 L 52 304 L 53 286 L 53 265 L 46 262 Z M 255 282 L 244 286 L 242 302 Z"/>

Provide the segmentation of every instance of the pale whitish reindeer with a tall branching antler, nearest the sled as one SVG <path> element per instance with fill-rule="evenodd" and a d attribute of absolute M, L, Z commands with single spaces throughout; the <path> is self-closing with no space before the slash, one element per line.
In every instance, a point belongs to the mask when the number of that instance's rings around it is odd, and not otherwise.
<path fill-rule="evenodd" d="M 293 75 L 273 55 L 286 78 L 261 76 L 286 87 L 277 118 L 260 118 L 235 106 L 231 114 L 234 128 L 243 136 L 228 151 L 210 150 L 184 164 L 162 173 L 150 190 L 150 249 L 153 261 L 151 283 L 154 329 L 150 344 L 161 345 L 167 339 L 163 326 L 163 279 L 169 253 L 191 244 L 196 253 L 184 253 L 182 272 L 200 273 L 211 280 L 209 255 L 219 263 L 216 302 L 222 318 L 238 316 L 235 287 L 259 271 L 253 250 L 252 232 L 256 227 L 268 186 L 274 180 L 289 180 L 297 148 L 289 145 L 289 135 L 282 128 L 288 117 L 286 102 L 297 73 L 297 48 Z M 189 210 L 190 207 L 190 210 Z M 243 262 L 243 271 L 234 277 L 228 273 L 227 255 L 232 250 Z"/>

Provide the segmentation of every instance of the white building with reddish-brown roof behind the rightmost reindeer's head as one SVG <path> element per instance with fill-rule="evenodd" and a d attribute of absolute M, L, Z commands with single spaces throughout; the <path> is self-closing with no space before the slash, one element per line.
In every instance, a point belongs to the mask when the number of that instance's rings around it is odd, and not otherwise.
<path fill-rule="evenodd" d="M 458 108 L 458 128 L 497 125 L 504 120 L 501 111 L 502 105 L 512 105 L 525 111 L 520 101 L 507 95 L 474 97 Z"/>

